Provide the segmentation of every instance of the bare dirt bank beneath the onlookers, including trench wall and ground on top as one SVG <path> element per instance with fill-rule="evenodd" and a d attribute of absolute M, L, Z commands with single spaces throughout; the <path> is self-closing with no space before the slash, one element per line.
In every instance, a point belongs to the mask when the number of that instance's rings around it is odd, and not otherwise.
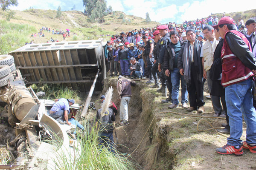
<path fill-rule="evenodd" d="M 117 78 L 105 79 L 104 84 L 102 94 L 112 86 L 113 102 L 119 109 Z M 201 119 L 206 119 L 214 127 L 221 127 L 221 123 L 226 123 L 225 118 L 195 117 L 214 114 L 211 100 L 205 98 L 207 95 L 209 93 L 205 84 L 204 102 L 206 104 L 203 114 L 197 114 L 196 111 L 188 112 L 180 105 L 178 108 L 168 109 L 170 103 L 161 104 L 161 99 L 164 97 L 157 93 L 156 89 L 149 88 L 143 81 L 137 82 L 137 85 L 132 87 L 132 98 L 129 103 L 130 124 L 121 127 L 116 125 L 118 150 L 121 153 L 131 154 L 145 134 L 140 146 L 132 154 L 143 170 L 255 170 L 256 154 L 244 149 L 243 156 L 220 155 L 215 152 L 215 148 L 226 144 L 227 137 L 216 133 L 215 130 L 197 130 L 198 121 Z M 177 113 L 185 113 L 185 115 Z M 116 122 L 119 122 L 119 113 L 116 116 Z M 152 125 L 148 130 L 151 122 Z M 243 127 L 246 128 L 244 122 Z M 202 130 L 209 128 L 211 127 L 206 122 L 199 125 L 199 129 Z M 243 130 L 241 140 L 245 138 L 246 131 Z M 114 140 L 116 140 L 115 136 Z"/>

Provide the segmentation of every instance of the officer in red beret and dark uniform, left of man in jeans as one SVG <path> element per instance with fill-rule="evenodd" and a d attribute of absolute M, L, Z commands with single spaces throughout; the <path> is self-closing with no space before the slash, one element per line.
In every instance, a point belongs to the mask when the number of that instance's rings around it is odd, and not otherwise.
<path fill-rule="evenodd" d="M 171 39 L 170 39 L 170 34 L 167 31 L 168 26 L 166 25 L 158 26 L 157 29 L 159 30 L 160 35 L 162 36 L 160 40 L 160 54 L 158 58 L 158 70 L 160 71 L 162 89 L 161 90 L 159 89 L 159 90 L 164 92 L 164 89 L 166 89 L 166 86 L 167 86 L 169 91 L 169 97 L 166 100 L 162 100 L 163 103 L 167 103 L 167 102 L 172 102 L 172 82 L 171 82 L 171 78 L 167 77 L 163 72 L 162 65 L 163 65 L 163 56 L 164 56 L 165 48 L 167 47 L 167 45 L 169 45 L 169 43 L 171 42 Z"/>

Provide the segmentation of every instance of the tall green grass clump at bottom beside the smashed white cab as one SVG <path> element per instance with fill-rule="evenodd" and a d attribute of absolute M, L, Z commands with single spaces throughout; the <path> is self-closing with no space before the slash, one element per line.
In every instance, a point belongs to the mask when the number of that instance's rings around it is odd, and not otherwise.
<path fill-rule="evenodd" d="M 81 146 L 81 155 L 71 158 L 69 154 L 56 154 L 55 166 L 61 170 L 135 170 L 140 169 L 137 164 L 127 159 L 129 155 L 121 154 L 114 149 L 99 147 L 99 130 L 86 122 L 85 130 L 77 133 L 78 144 Z M 58 144 L 59 145 L 59 144 Z M 60 146 L 60 145 L 59 145 Z M 78 150 L 77 150 L 78 151 Z M 58 161 L 57 161 L 58 160 Z M 73 160 L 73 161 L 70 161 Z"/>

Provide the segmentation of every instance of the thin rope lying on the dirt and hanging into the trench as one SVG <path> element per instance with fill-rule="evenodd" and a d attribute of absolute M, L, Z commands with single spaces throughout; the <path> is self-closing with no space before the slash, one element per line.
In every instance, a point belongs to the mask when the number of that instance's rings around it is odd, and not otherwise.
<path fill-rule="evenodd" d="M 178 112 L 173 112 L 173 111 L 158 112 L 158 113 L 155 114 L 155 116 L 154 116 L 153 119 L 151 120 L 151 123 L 149 124 L 148 129 L 146 130 L 146 132 L 145 132 L 143 138 L 141 139 L 140 143 L 138 144 L 138 146 L 135 148 L 135 150 L 134 150 L 129 156 L 131 156 L 131 155 L 138 149 L 138 147 L 140 146 L 141 142 L 143 141 L 143 139 L 145 138 L 146 134 L 148 133 L 148 130 L 149 130 L 149 128 L 151 127 L 151 125 L 152 125 L 152 123 L 153 123 L 153 121 L 154 121 L 154 118 L 155 118 L 158 114 L 161 114 L 161 113 L 175 113 L 175 114 L 179 114 L 179 115 L 192 116 L 192 117 L 226 119 L 226 118 L 224 118 L 224 117 L 191 115 L 191 114 L 178 113 Z M 198 131 L 204 131 L 204 130 L 199 130 L 199 129 L 198 129 L 198 125 L 199 125 L 199 123 L 200 123 L 202 120 L 206 121 L 206 122 L 212 127 L 212 128 L 210 128 L 210 129 L 206 129 L 206 130 L 213 130 L 213 129 L 220 129 L 220 128 L 222 128 L 222 127 L 213 127 L 212 124 L 210 124 L 207 120 L 201 119 L 201 120 L 199 120 L 199 122 L 198 122 L 198 124 L 197 124 L 197 130 L 198 130 Z M 216 131 L 217 133 L 219 133 L 217 130 L 215 130 L 215 131 Z M 219 133 L 219 134 L 221 134 L 222 136 L 228 137 L 228 136 L 226 136 L 226 135 L 224 135 L 224 134 L 222 134 L 222 133 Z M 129 157 L 129 156 L 128 156 L 128 157 Z"/>

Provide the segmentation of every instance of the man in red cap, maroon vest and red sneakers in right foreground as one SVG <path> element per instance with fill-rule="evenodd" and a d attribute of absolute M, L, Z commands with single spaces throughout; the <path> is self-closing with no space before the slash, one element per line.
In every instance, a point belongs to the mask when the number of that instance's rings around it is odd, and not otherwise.
<path fill-rule="evenodd" d="M 256 153 L 256 111 L 251 94 L 253 76 L 256 75 L 256 59 L 251 52 L 250 42 L 243 34 L 236 31 L 235 21 L 232 18 L 222 17 L 214 28 L 218 29 L 224 39 L 221 49 L 221 84 L 225 87 L 230 125 L 227 144 L 216 148 L 216 151 L 221 154 L 242 155 L 244 148 Z M 242 115 L 247 124 L 244 142 L 240 139 L 243 133 Z"/>

